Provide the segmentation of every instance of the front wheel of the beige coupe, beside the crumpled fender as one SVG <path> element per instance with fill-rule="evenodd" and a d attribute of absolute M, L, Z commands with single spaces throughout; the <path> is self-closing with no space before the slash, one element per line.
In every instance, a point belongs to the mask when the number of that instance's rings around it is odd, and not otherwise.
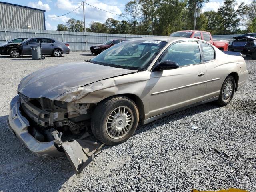
<path fill-rule="evenodd" d="M 91 129 L 101 142 L 117 145 L 134 134 L 138 121 L 138 108 L 132 100 L 125 96 L 111 97 L 100 102 L 95 108 Z"/>

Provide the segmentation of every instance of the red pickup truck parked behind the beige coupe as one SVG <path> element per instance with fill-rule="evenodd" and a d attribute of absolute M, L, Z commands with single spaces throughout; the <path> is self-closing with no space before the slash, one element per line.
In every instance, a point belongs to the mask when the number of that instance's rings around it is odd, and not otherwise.
<path fill-rule="evenodd" d="M 202 39 L 208 41 L 222 51 L 227 51 L 229 45 L 229 42 L 225 40 L 213 40 L 211 33 L 208 31 L 176 31 L 170 34 L 170 37 L 188 37 Z"/>

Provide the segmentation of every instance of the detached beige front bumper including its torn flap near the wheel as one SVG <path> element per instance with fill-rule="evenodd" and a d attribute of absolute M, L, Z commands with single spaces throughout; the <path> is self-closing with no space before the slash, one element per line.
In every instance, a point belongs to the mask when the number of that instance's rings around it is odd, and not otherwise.
<path fill-rule="evenodd" d="M 28 120 L 22 116 L 20 105 L 20 96 L 17 95 L 10 104 L 10 114 L 7 120 L 10 131 L 34 154 L 45 157 L 57 157 L 66 154 L 76 171 L 76 175 L 80 177 L 82 169 L 94 159 L 104 144 L 82 139 L 62 142 L 60 139 L 62 133 L 59 134 L 58 131 L 52 132 L 54 141 L 40 142 L 28 132 L 30 125 Z M 57 147 L 62 148 L 64 152 L 57 150 Z"/>

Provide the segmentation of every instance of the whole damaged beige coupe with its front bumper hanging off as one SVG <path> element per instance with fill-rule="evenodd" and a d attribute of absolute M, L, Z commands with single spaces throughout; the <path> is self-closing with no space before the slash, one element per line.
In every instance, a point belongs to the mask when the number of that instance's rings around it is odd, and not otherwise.
<path fill-rule="evenodd" d="M 126 54 L 128 48 L 134 54 Z M 23 78 L 8 127 L 35 154 L 66 154 L 79 176 L 103 144 L 125 142 L 138 124 L 191 106 L 227 105 L 247 78 L 244 58 L 203 40 L 127 40 L 87 62 Z M 88 122 L 98 141 L 86 138 Z M 72 139 L 79 134 L 84 136 Z"/>

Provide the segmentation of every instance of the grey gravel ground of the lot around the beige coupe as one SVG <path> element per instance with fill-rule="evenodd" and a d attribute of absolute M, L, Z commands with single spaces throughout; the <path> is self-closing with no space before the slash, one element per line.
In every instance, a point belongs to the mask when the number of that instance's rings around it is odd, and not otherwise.
<path fill-rule="evenodd" d="M 248 82 L 228 106 L 204 104 L 140 126 L 127 142 L 105 146 L 81 178 L 66 157 L 42 158 L 28 151 L 6 125 L 20 79 L 47 66 L 92 57 L 88 52 L 45 60 L 0 56 L 1 192 L 256 191 L 256 61 L 250 58 L 245 58 Z M 198 129 L 191 129 L 193 125 Z"/>

